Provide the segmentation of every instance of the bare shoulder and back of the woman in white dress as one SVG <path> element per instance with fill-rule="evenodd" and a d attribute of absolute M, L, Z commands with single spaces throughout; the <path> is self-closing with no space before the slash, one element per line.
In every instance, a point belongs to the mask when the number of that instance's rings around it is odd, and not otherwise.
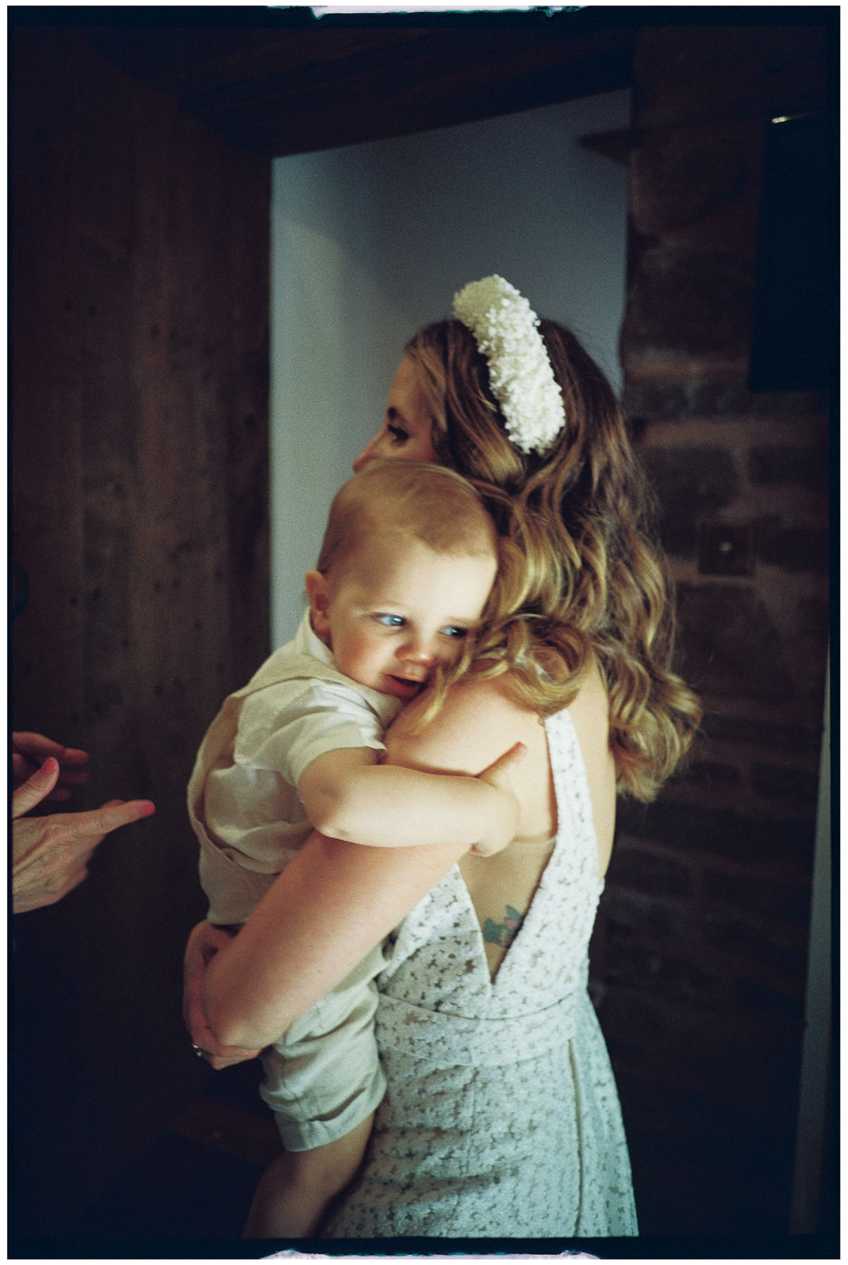
<path fill-rule="evenodd" d="M 602 877 L 613 848 L 615 767 L 609 748 L 608 700 L 597 669 L 570 712 L 586 765 Z M 557 832 L 544 726 L 534 712 L 513 702 L 499 681 L 456 686 L 438 716 L 418 734 L 409 732 L 414 715 L 408 708 L 387 736 L 392 763 L 477 774 L 513 744 L 520 741 L 528 749 L 514 777 L 520 805 L 516 839 L 496 856 L 466 853 L 459 861 L 494 978 L 530 906 Z"/>

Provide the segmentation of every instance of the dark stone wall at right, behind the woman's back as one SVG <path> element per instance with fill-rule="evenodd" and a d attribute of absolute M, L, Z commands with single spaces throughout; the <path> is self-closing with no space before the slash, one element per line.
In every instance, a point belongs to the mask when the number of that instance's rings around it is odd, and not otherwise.
<path fill-rule="evenodd" d="M 789 1228 L 828 651 L 828 400 L 748 390 L 764 133 L 824 105 L 825 32 L 640 34 L 625 411 L 705 717 L 625 806 L 595 990 L 645 1232 Z"/>

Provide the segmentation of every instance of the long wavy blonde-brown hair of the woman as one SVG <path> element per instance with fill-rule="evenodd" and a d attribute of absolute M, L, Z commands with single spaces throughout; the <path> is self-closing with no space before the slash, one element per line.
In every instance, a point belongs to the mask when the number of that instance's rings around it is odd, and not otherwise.
<path fill-rule="evenodd" d="M 500 535 L 499 577 L 481 638 L 439 681 L 509 672 L 508 688 L 542 716 L 567 707 L 594 663 L 610 702 L 621 793 L 651 801 L 701 719 L 672 670 L 673 587 L 651 531 L 653 498 L 601 369 L 572 333 L 539 331 L 566 425 L 543 455 L 506 436 L 486 359 L 457 320 L 406 345 L 433 417 L 438 459 L 477 487 Z M 428 715 L 432 711 L 428 708 Z"/>

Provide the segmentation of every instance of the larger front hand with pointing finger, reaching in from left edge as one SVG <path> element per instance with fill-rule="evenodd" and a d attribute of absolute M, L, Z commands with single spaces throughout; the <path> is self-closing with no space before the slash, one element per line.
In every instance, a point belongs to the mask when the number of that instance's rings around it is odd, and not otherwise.
<path fill-rule="evenodd" d="M 110 799 L 90 812 L 24 817 L 49 796 L 59 772 L 59 762 L 48 756 L 11 797 L 11 896 L 15 913 L 61 901 L 86 877 L 91 853 L 105 835 L 156 811 L 149 799 L 130 799 L 129 803 Z"/>

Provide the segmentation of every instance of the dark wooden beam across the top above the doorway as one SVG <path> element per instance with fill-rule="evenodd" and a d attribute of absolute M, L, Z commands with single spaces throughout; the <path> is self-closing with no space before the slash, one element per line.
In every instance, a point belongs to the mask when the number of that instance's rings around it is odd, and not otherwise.
<path fill-rule="evenodd" d="M 540 16 L 540 15 L 537 15 Z M 635 27 L 90 28 L 99 52 L 267 157 L 406 135 L 627 87 Z"/>

